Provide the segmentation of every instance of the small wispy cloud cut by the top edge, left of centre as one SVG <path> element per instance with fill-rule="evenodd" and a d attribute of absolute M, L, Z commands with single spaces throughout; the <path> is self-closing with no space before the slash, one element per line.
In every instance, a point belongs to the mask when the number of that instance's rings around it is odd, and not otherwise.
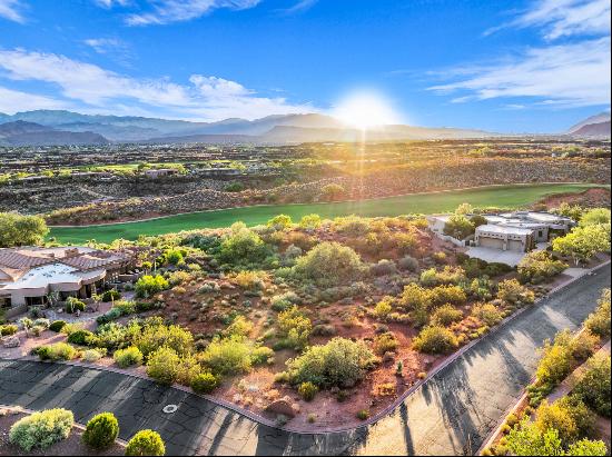
<path fill-rule="evenodd" d="M 245 10 L 261 0 L 148 0 L 148 10 L 128 14 L 129 26 L 167 24 L 197 19 L 216 9 Z"/>

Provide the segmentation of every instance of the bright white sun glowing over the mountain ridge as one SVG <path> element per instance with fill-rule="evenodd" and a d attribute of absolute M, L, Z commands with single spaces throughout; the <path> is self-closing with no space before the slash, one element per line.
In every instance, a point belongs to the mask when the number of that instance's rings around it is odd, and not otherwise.
<path fill-rule="evenodd" d="M 351 127 L 362 130 L 399 123 L 399 117 L 381 95 L 369 91 L 354 92 L 340 100 L 333 116 Z"/>

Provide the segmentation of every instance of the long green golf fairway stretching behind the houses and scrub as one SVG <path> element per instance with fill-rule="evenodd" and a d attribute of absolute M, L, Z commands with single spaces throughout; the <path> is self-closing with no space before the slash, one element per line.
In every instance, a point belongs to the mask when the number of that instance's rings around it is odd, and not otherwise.
<path fill-rule="evenodd" d="M 323 218 L 337 216 L 399 216 L 408 213 L 435 213 L 454 210 L 468 202 L 475 207 L 519 208 L 552 193 L 581 192 L 594 185 L 517 185 L 486 187 L 392 197 L 375 200 L 313 205 L 277 205 L 221 209 L 169 216 L 140 222 L 113 223 L 91 227 L 57 227 L 49 237 L 62 242 L 79 244 L 90 239 L 109 242 L 117 238 L 136 239 L 139 235 L 161 235 L 198 228 L 227 227 L 241 220 L 249 226 L 264 223 L 274 216 L 285 213 L 294 220 L 316 212 Z"/>

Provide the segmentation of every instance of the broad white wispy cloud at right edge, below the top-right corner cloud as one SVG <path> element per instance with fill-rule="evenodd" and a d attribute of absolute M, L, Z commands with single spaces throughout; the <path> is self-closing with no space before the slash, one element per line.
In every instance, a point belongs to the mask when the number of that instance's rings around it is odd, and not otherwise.
<path fill-rule="evenodd" d="M 442 93 L 460 92 L 455 102 L 534 97 L 543 103 L 567 107 L 609 105 L 610 63 L 608 37 L 532 48 L 501 63 L 461 68 L 450 72 L 455 81 L 430 89 Z"/>

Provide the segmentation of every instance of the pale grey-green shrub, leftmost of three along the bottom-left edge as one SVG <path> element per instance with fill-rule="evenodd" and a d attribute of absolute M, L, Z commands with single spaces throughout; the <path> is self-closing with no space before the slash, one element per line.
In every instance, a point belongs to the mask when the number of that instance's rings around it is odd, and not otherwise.
<path fill-rule="evenodd" d="M 47 449 L 68 438 L 75 424 L 71 411 L 56 408 L 34 413 L 19 419 L 11 426 L 9 441 L 30 453 L 32 449 Z"/>

